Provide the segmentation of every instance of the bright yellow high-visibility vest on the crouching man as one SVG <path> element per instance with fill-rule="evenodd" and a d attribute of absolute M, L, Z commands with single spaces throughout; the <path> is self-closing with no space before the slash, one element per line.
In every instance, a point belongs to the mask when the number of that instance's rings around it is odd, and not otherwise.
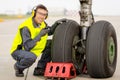
<path fill-rule="evenodd" d="M 25 22 L 23 22 L 19 26 L 18 32 L 17 32 L 15 39 L 13 41 L 12 48 L 10 50 L 11 54 L 15 50 L 17 50 L 19 48 L 19 46 L 22 46 L 22 37 L 20 34 L 20 30 L 24 27 L 27 27 L 29 29 L 30 34 L 31 34 L 31 39 L 34 39 L 40 33 L 40 31 L 46 27 L 46 24 L 45 24 L 45 22 L 42 22 L 39 27 L 35 28 L 33 26 L 32 17 L 28 18 Z M 30 52 L 33 52 L 36 56 L 39 56 L 40 53 L 45 48 L 45 45 L 47 42 L 47 37 L 48 37 L 48 34 L 46 34 L 45 36 L 42 36 L 41 40 L 36 43 L 36 45 L 30 50 Z M 22 46 L 22 49 L 24 50 L 23 46 Z"/>

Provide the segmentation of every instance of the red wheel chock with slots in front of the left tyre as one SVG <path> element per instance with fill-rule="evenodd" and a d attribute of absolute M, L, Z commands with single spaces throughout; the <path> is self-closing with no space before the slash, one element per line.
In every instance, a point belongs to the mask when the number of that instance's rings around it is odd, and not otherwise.
<path fill-rule="evenodd" d="M 68 80 L 76 77 L 76 69 L 72 63 L 47 63 L 44 76 L 47 78 L 64 78 Z"/>

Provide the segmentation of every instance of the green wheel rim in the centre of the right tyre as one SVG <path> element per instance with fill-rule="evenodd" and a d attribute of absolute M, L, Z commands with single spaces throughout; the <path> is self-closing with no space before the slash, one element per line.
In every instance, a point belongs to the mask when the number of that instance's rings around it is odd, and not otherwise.
<path fill-rule="evenodd" d="M 115 58 L 115 43 L 112 37 L 108 40 L 108 60 L 112 64 Z"/>

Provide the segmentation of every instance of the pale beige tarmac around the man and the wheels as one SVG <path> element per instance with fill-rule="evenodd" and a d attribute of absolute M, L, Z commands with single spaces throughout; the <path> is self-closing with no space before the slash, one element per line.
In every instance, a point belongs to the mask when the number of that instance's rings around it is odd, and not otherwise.
<path fill-rule="evenodd" d="M 54 21 L 61 19 L 63 17 L 49 17 L 47 22 L 51 25 Z M 73 19 L 79 23 L 79 17 L 67 17 L 68 19 Z M 107 20 L 114 26 L 117 33 L 117 41 L 118 41 L 118 58 L 117 58 L 117 67 L 113 77 L 102 79 L 102 80 L 120 80 L 120 16 L 96 16 L 95 20 Z M 4 22 L 0 22 L 0 80 L 25 80 L 25 77 L 19 78 L 15 76 L 15 71 L 13 65 L 15 61 L 12 59 L 10 55 L 10 48 L 13 41 L 13 38 L 17 32 L 18 25 L 24 21 L 21 20 L 5 20 Z M 38 58 L 39 59 L 39 58 Z M 38 61 L 38 60 L 37 60 Z M 37 63 L 36 61 L 36 63 Z M 44 80 L 43 76 L 35 77 L 33 76 L 33 70 L 36 66 L 34 63 L 28 72 L 28 76 L 26 80 Z M 26 74 L 24 71 L 24 74 Z M 72 80 L 101 80 L 91 78 L 89 75 L 79 75 Z"/>

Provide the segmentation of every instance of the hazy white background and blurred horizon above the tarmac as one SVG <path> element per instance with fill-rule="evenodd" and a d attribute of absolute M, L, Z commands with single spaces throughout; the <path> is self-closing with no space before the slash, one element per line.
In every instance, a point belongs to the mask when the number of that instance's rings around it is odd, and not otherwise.
<path fill-rule="evenodd" d="M 75 16 L 80 10 L 79 0 L 2 0 L 0 1 L 0 19 L 23 18 L 31 14 L 32 8 L 44 4 L 49 16 Z M 94 15 L 120 15 L 120 0 L 93 0 Z"/>

